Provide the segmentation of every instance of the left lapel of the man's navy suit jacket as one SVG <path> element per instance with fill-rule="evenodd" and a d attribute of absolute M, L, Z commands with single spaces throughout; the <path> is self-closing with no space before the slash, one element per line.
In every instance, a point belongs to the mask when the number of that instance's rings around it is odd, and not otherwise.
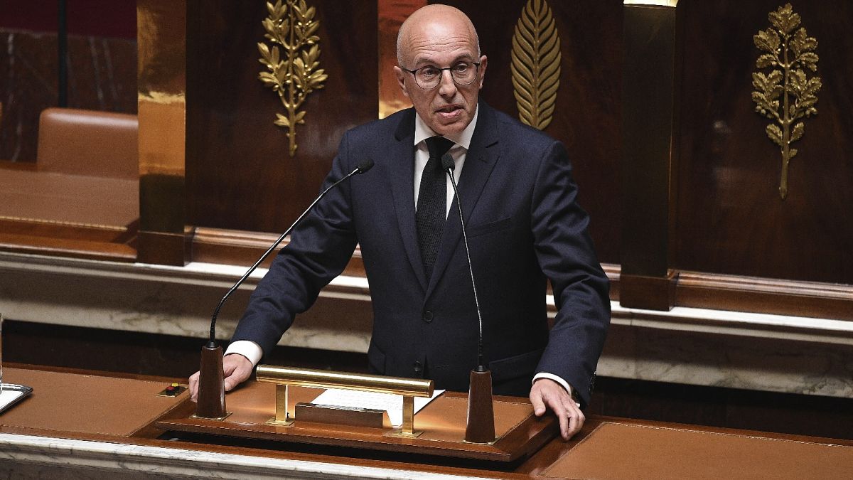
<path fill-rule="evenodd" d="M 394 133 L 397 143 L 388 152 L 392 165 L 389 167 L 394 208 L 406 256 L 415 271 L 421 289 L 427 290 L 427 274 L 424 272 L 418 234 L 415 227 L 415 109 L 409 108 Z"/>

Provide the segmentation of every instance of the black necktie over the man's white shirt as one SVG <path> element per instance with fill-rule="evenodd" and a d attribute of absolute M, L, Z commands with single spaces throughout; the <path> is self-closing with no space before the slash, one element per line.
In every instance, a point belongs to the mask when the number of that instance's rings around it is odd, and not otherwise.
<path fill-rule="evenodd" d="M 421 175 L 421 190 L 418 192 L 418 206 L 415 220 L 418 229 L 418 243 L 421 246 L 421 259 L 427 272 L 427 280 L 432 277 L 432 265 L 438 255 L 438 243 L 444 229 L 447 213 L 447 181 L 441 168 L 441 157 L 454 143 L 444 137 L 427 138 L 429 160 Z"/>

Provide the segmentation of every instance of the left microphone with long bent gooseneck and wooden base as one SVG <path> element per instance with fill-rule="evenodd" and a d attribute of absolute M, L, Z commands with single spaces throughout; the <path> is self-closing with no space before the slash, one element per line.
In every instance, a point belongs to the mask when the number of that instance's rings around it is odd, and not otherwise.
<path fill-rule="evenodd" d="M 299 222 L 305 218 L 305 215 L 314 208 L 317 202 L 320 202 L 320 199 L 322 199 L 323 196 L 326 196 L 330 190 L 343 183 L 346 179 L 349 179 L 353 175 L 365 173 L 373 168 L 373 166 L 374 161 L 370 159 L 363 160 L 358 163 L 357 167 L 352 170 L 352 172 L 347 173 L 343 179 L 339 179 L 334 184 L 329 185 L 326 190 L 323 190 L 322 193 L 316 197 L 314 202 L 311 202 L 308 208 L 305 208 L 305 212 L 299 215 L 299 218 L 293 222 L 293 225 L 290 225 L 290 228 L 282 233 L 281 237 L 278 237 L 276 242 L 274 242 L 272 246 L 264 252 L 264 255 L 261 255 L 260 258 L 258 258 L 258 261 L 256 261 L 239 280 L 237 280 L 234 286 L 232 286 L 231 289 L 228 290 L 228 293 L 222 297 L 222 300 L 219 301 L 219 304 L 213 311 L 213 315 L 211 317 L 210 338 L 205 346 L 201 348 L 201 365 L 199 368 L 199 402 L 195 409 L 196 417 L 204 419 L 224 419 L 228 416 L 228 413 L 225 412 L 225 379 L 222 365 L 222 347 L 220 347 L 216 341 L 216 320 L 219 316 L 219 310 L 222 308 L 225 301 L 228 300 L 229 296 L 231 296 L 247 278 L 249 278 L 249 275 L 251 275 L 252 272 L 254 272 L 255 269 L 258 268 L 258 266 L 266 259 L 266 257 L 269 256 L 276 247 L 278 247 L 284 238 L 293 231 L 293 228 L 296 225 L 299 225 Z"/>

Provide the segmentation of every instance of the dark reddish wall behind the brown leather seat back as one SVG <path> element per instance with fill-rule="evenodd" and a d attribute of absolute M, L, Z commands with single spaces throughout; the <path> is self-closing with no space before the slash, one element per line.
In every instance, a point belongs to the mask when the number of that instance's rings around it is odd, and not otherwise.
<path fill-rule="evenodd" d="M 57 106 L 59 7 L 0 2 L 0 160 L 35 161 L 38 114 Z M 68 2 L 68 107 L 136 113 L 136 4 Z"/>

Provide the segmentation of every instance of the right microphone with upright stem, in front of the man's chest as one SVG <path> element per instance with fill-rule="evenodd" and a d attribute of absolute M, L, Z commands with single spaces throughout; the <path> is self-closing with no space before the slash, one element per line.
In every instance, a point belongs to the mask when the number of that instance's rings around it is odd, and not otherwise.
<path fill-rule="evenodd" d="M 450 154 L 441 157 L 441 167 L 450 176 L 453 193 L 456 195 L 456 208 L 459 208 L 459 222 L 462 225 L 462 240 L 465 243 L 465 255 L 468 260 L 468 272 L 471 273 L 471 287 L 474 291 L 474 305 L 477 307 L 479 337 L 477 341 L 477 368 L 471 371 L 468 383 L 468 413 L 465 426 L 465 441 L 472 443 L 490 443 L 495 441 L 495 410 L 491 400 L 491 372 L 483 365 L 483 313 L 480 311 L 477 296 L 477 284 L 474 282 L 474 269 L 471 265 L 471 250 L 468 249 L 468 236 L 465 231 L 465 219 L 462 216 L 462 199 L 456 188 L 453 171 L 456 164 Z"/>

